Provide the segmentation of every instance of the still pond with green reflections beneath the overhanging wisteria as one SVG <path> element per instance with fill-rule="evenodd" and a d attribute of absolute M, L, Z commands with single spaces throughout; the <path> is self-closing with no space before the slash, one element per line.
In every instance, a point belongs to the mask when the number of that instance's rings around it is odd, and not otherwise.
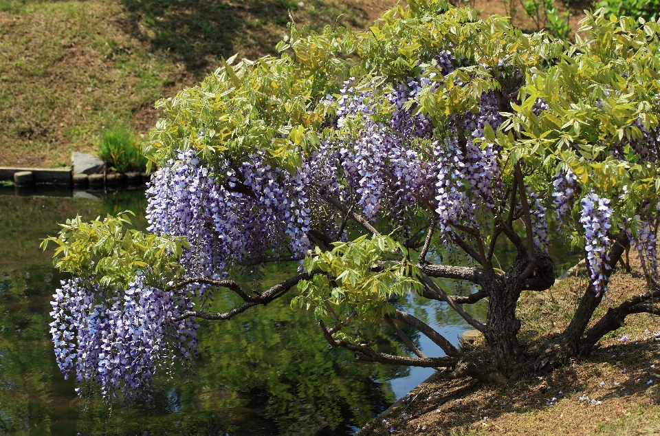
<path fill-rule="evenodd" d="M 83 195 L 0 195 L 0 434 L 351 435 L 432 374 L 358 362 L 345 349 L 330 349 L 314 317 L 294 312 L 292 296 L 285 296 L 229 321 L 201 323 L 196 375 L 159 377 L 143 400 L 79 399 L 75 382 L 56 366 L 48 325 L 50 299 L 67 276 L 52 268 L 52 251 L 42 252 L 39 239 L 76 214 L 94 219 L 133 210 L 135 226 L 146 226 L 144 192 Z M 503 246 L 503 263 L 507 252 Z M 560 254 L 558 273 L 579 257 L 566 249 Z M 272 285 L 295 270 L 270 265 L 245 285 Z M 218 293 L 213 308 L 236 303 L 234 294 Z M 473 316 L 485 317 L 484 303 L 469 307 Z M 397 304 L 454 344 L 470 329 L 444 303 L 410 296 Z M 441 356 L 430 340 L 408 333 L 424 353 Z M 406 353 L 393 331 L 377 346 Z"/>

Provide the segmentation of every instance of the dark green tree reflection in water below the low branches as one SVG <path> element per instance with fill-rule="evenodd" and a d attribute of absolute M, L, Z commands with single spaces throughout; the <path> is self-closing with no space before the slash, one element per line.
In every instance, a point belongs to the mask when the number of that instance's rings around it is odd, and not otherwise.
<path fill-rule="evenodd" d="M 316 434 L 348 424 L 351 415 L 353 424 L 366 422 L 393 400 L 375 382 L 386 379 L 382 367 L 329 349 L 322 336 L 310 333 L 318 329 L 313 318 L 292 312 L 288 301 L 276 301 L 256 316 L 204 327 L 198 377 L 206 388 L 197 397 L 203 408 L 219 408 L 227 391 L 245 386 L 263 391 L 265 400 L 249 405 L 262 408 L 267 418 L 277 417 L 278 434 Z M 387 338 L 382 341 L 393 347 Z"/>

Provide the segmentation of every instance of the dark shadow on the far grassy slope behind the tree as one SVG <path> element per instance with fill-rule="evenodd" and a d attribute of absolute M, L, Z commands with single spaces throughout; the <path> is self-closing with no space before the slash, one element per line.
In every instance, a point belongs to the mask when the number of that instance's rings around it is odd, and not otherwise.
<path fill-rule="evenodd" d="M 129 32 L 200 72 L 221 56 L 273 54 L 286 32 L 291 0 L 121 0 Z"/>

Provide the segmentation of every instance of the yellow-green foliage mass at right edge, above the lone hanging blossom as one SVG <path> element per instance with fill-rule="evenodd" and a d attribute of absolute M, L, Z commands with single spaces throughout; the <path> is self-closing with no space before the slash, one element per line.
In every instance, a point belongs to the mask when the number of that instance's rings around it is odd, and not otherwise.
<path fill-rule="evenodd" d="M 586 36 L 577 34 L 558 62 L 529 69 L 520 104 L 512 103 L 514 113 L 487 140 L 503 146 L 509 164 L 522 159 L 548 174 L 570 169 L 582 192 L 613 200 L 617 228 L 658 199 L 657 164 L 621 144 L 641 138 L 636 122 L 649 131 L 659 126 L 660 25 L 598 12 L 587 15 L 580 32 Z M 538 99 L 549 109 L 537 116 Z M 624 159 L 615 156 L 618 147 Z"/>

